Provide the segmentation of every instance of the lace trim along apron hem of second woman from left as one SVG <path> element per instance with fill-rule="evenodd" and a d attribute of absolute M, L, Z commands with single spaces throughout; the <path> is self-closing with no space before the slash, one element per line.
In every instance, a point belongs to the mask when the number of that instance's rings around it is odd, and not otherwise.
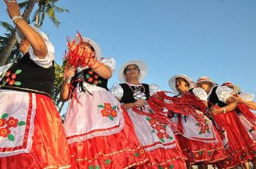
<path fill-rule="evenodd" d="M 121 130 L 123 130 L 123 128 L 124 128 L 124 116 L 121 115 L 120 124 L 119 124 L 118 127 L 110 129 L 110 130 L 95 131 L 93 133 L 89 133 L 89 134 L 86 134 L 86 135 L 78 135 L 74 138 L 68 138 L 67 143 L 72 144 L 72 143 L 75 143 L 75 142 L 86 141 L 89 138 L 94 138 L 94 137 L 97 137 L 97 136 L 113 135 L 113 134 L 119 133 Z"/>

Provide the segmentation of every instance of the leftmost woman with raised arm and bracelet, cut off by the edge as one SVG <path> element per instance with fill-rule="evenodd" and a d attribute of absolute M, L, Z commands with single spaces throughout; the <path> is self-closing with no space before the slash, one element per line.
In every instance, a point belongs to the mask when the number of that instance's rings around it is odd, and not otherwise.
<path fill-rule="evenodd" d="M 50 97 L 53 44 L 23 20 L 17 1 L 4 2 L 23 58 L 0 68 L 0 168 L 69 168 L 69 146 Z"/>

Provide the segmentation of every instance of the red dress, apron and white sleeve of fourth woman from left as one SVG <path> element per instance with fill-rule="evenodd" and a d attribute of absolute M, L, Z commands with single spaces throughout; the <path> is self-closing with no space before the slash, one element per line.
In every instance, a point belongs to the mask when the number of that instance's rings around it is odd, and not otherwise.
<path fill-rule="evenodd" d="M 199 87 L 192 89 L 192 93 L 201 101 L 207 100 L 206 92 Z M 178 97 L 184 96 L 178 95 Z M 197 116 L 175 114 L 172 117 L 173 122 L 182 128 L 181 131 L 178 130 L 175 134 L 186 157 L 187 164 L 193 165 L 201 162 L 209 164 L 224 160 L 227 155 L 216 127 L 214 127 L 211 119 L 206 117 L 205 113 L 198 109 L 195 112 Z"/>

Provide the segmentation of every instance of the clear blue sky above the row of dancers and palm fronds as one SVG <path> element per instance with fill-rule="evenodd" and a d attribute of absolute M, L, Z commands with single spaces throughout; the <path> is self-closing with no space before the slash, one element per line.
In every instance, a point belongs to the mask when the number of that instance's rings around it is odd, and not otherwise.
<path fill-rule="evenodd" d="M 18 1 L 20 2 L 20 1 Z M 0 20 L 10 21 L 3 1 Z M 62 62 L 66 36 L 76 31 L 93 39 L 105 58 L 118 68 L 128 60 L 148 65 L 144 82 L 170 90 L 170 76 L 187 74 L 194 81 L 209 76 L 230 81 L 256 94 L 256 1 L 253 0 L 62 0 L 56 28 L 46 19 L 42 26 Z M 4 30 L 0 28 L 0 34 Z M 118 82 L 117 70 L 108 86 Z"/>

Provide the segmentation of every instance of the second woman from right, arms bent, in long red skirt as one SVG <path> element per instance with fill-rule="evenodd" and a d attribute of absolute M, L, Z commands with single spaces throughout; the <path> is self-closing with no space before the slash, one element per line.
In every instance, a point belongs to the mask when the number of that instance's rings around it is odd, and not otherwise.
<path fill-rule="evenodd" d="M 229 155 L 226 160 L 219 162 L 219 165 L 221 168 L 235 168 L 238 165 L 249 168 L 247 161 L 255 158 L 256 144 L 236 112 L 238 105 L 233 98 L 233 89 L 225 85 L 217 86 L 207 76 L 200 77 L 197 86 L 208 93 L 208 107 Z"/>

